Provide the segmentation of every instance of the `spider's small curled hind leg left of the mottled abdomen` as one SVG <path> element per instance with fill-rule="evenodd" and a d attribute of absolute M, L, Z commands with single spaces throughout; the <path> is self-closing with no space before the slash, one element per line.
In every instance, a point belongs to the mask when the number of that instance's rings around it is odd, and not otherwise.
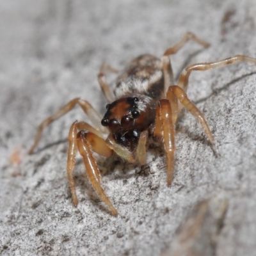
<path fill-rule="evenodd" d="M 102 66 L 100 67 L 100 72 L 98 74 L 98 81 L 100 84 L 100 88 L 101 88 L 102 92 L 104 93 L 108 102 L 111 103 L 115 100 L 115 95 L 112 92 L 112 90 L 109 88 L 109 84 L 106 82 L 106 73 L 107 72 L 118 73 L 118 70 L 111 67 L 110 65 L 106 65 L 105 63 L 103 63 Z"/>

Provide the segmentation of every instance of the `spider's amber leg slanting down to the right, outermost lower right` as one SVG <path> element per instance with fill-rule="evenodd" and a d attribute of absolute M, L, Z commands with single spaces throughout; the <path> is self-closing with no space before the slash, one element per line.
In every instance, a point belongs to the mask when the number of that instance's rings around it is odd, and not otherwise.
<path fill-rule="evenodd" d="M 202 127 L 204 128 L 205 133 L 207 134 L 207 137 L 209 138 L 209 141 L 213 144 L 214 139 L 212 136 L 212 133 L 209 129 L 209 126 L 204 118 L 203 113 L 196 108 L 195 104 L 191 102 L 191 100 L 188 99 L 188 96 L 186 95 L 186 92 L 182 90 L 179 86 L 173 85 L 170 86 L 169 90 L 171 90 L 175 96 L 180 100 L 181 104 L 188 109 L 188 111 L 197 118 L 197 120 L 200 122 Z"/>

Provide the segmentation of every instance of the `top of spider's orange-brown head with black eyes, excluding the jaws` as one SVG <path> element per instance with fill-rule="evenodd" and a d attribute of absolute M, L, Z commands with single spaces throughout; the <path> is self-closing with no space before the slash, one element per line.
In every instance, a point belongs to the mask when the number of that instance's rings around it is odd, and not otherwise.
<path fill-rule="evenodd" d="M 112 133 L 134 129 L 143 130 L 154 122 L 156 107 L 144 95 L 132 95 L 115 100 L 106 106 L 106 114 L 101 121 Z"/>

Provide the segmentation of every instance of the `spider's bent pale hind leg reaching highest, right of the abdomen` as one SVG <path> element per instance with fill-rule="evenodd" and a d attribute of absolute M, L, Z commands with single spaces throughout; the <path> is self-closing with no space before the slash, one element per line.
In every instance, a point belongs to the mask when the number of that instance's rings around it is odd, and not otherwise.
<path fill-rule="evenodd" d="M 177 44 L 168 48 L 164 52 L 164 55 L 162 57 L 162 67 L 163 67 L 163 73 L 164 73 L 164 89 L 165 89 L 164 92 L 167 91 L 168 86 L 170 86 L 170 84 L 174 84 L 174 78 L 173 78 L 172 65 L 171 65 L 171 61 L 170 61 L 170 55 L 175 54 L 177 51 L 179 51 L 180 48 L 183 47 L 184 44 L 186 44 L 186 42 L 188 42 L 189 40 L 194 40 L 196 43 L 198 43 L 198 44 L 200 44 L 204 47 L 209 46 L 209 44 L 207 42 L 201 40 L 200 38 L 198 38 L 193 33 L 188 32 L 188 33 L 186 33 L 186 35 L 184 35 L 182 37 L 180 42 L 178 42 Z"/>

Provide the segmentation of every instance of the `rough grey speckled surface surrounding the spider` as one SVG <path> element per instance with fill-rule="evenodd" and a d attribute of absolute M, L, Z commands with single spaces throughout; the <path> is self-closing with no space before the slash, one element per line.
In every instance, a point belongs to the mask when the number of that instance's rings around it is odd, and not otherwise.
<path fill-rule="evenodd" d="M 81 160 L 80 203 L 71 204 L 67 133 L 74 120 L 86 120 L 81 109 L 45 129 L 36 154 L 26 154 L 36 126 L 68 100 L 82 97 L 104 112 L 96 79 L 102 61 L 122 68 L 138 54 L 161 56 L 186 31 L 211 47 L 200 51 L 189 42 L 172 58 L 175 74 L 188 63 L 234 54 L 256 58 L 255 13 L 255 0 L 1 1 L 0 254 L 161 255 L 193 206 L 218 196 L 228 208 L 214 255 L 255 255 L 256 65 L 192 74 L 188 95 L 208 120 L 219 156 L 185 113 L 172 187 L 161 150 L 148 154 L 146 174 L 100 161 L 116 218 L 91 188 Z"/>

